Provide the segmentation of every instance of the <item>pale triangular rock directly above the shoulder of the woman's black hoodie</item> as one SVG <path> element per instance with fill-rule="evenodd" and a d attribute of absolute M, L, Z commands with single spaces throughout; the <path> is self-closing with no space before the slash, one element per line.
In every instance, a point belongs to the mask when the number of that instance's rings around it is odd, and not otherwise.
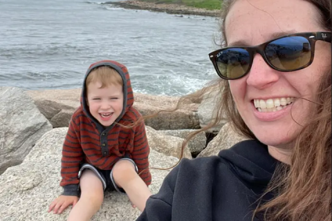
<path fill-rule="evenodd" d="M 208 146 L 206 146 L 206 148 L 201 153 L 199 153 L 197 157 L 218 155 L 219 151 L 230 148 L 242 140 L 246 140 L 246 138 L 241 137 L 235 133 L 230 127 L 230 124 L 227 123 L 221 128 L 218 135 L 216 135 L 216 137 L 214 137 L 214 139 L 209 142 Z"/>

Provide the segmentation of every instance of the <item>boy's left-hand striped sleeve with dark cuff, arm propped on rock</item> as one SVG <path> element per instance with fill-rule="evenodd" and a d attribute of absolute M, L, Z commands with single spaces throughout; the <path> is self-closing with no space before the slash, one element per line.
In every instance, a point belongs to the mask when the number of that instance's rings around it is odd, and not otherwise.
<path fill-rule="evenodd" d="M 83 160 L 82 146 L 77 138 L 77 128 L 73 118 L 69 124 L 68 132 L 62 147 L 60 186 L 64 187 L 62 195 L 77 195 L 78 193 L 78 171 L 80 162 Z"/>

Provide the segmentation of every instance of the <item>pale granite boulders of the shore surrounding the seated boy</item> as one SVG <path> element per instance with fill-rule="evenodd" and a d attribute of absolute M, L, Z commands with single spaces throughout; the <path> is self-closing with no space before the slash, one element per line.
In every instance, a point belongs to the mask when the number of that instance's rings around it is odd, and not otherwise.
<path fill-rule="evenodd" d="M 0 87 L 0 217 L 6 221 L 62 221 L 62 215 L 47 213 L 50 202 L 62 193 L 59 186 L 62 145 L 71 115 L 80 106 L 81 88 L 68 90 L 22 90 Z M 134 107 L 149 115 L 174 107 L 179 97 L 134 93 Z M 160 113 L 145 121 L 150 166 L 167 169 L 178 162 L 183 137 L 212 120 L 216 94 L 183 104 L 178 111 Z M 208 137 L 214 134 L 212 140 Z M 223 121 L 212 131 L 199 133 L 184 148 L 184 157 L 206 157 L 243 140 Z M 151 169 L 151 193 L 157 193 L 167 170 Z M 91 220 L 136 220 L 138 209 L 126 195 L 107 193 Z"/>

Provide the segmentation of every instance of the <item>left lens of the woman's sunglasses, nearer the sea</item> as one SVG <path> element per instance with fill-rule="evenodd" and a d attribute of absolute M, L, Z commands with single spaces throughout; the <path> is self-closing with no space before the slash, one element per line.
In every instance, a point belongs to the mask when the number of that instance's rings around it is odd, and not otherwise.
<path fill-rule="evenodd" d="M 216 65 L 223 77 L 234 79 L 246 74 L 250 56 L 243 48 L 228 48 L 216 55 Z"/>

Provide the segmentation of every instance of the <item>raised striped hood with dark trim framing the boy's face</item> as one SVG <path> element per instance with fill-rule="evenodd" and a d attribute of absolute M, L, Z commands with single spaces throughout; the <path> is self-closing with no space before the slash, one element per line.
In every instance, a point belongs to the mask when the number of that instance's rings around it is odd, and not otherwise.
<path fill-rule="evenodd" d="M 124 113 L 126 113 L 129 110 L 129 108 L 131 108 L 131 106 L 133 106 L 134 99 L 133 99 L 133 90 L 131 88 L 130 77 L 129 77 L 129 73 L 128 73 L 126 66 L 118 63 L 117 61 L 111 61 L 111 60 L 102 60 L 102 61 L 98 61 L 98 62 L 91 64 L 89 69 L 86 70 L 86 74 L 85 74 L 84 81 L 83 81 L 82 95 L 81 95 L 81 107 L 82 107 L 84 113 L 86 114 L 86 116 L 88 116 L 91 119 L 91 121 L 93 121 L 95 123 L 95 125 L 98 126 L 98 129 L 100 129 L 100 131 L 102 131 L 103 126 L 98 122 L 97 119 L 95 119 L 91 115 L 91 113 L 89 111 L 89 106 L 87 105 L 87 102 L 86 102 L 86 86 L 85 86 L 86 78 L 89 76 L 89 74 L 92 72 L 92 70 L 94 70 L 95 68 L 98 68 L 100 66 L 109 66 L 109 67 L 113 68 L 114 70 L 116 70 L 119 73 L 119 75 L 121 76 L 122 81 L 123 81 L 122 90 L 123 90 L 123 107 L 124 108 L 122 109 L 120 116 L 116 119 L 115 122 L 119 122 L 120 119 L 122 118 L 122 116 L 124 115 Z M 111 126 L 113 126 L 113 124 Z"/>

